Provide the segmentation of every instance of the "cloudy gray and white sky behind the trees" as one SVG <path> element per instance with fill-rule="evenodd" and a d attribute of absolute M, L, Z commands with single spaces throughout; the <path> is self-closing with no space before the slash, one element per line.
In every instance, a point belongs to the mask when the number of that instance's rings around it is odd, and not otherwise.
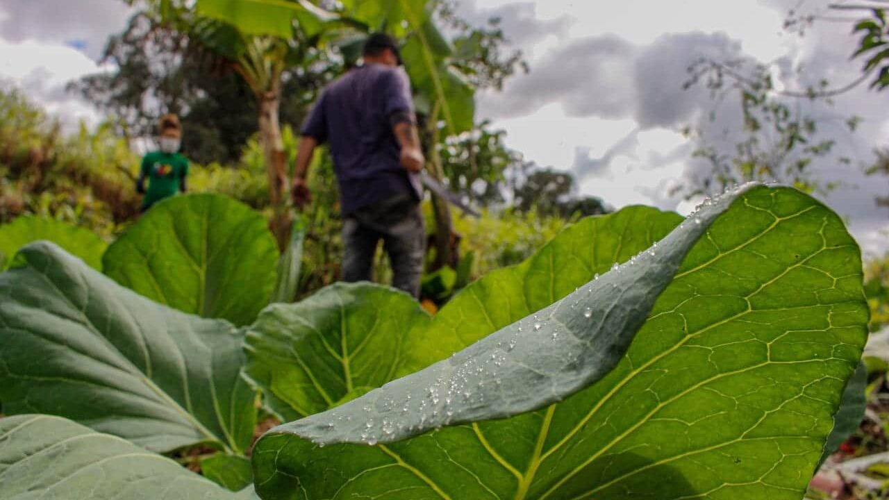
<path fill-rule="evenodd" d="M 842 0 L 841 0 L 842 1 Z M 684 91 L 686 68 L 701 56 L 749 57 L 779 68 L 803 65 L 807 82 L 827 77 L 842 85 L 859 75 L 850 62 L 849 25 L 819 23 L 806 36 L 782 32 L 790 9 L 820 12 L 827 0 L 462 0 L 461 14 L 483 22 L 502 19 L 512 43 L 525 52 L 528 75 L 514 77 L 501 93 L 479 98 L 479 115 L 508 132 L 509 146 L 540 165 L 572 170 L 584 194 L 621 207 L 648 204 L 689 210 L 693 203 L 669 196 L 701 173 L 691 158 L 685 125 L 722 130 L 737 126 L 731 106 L 709 123 L 713 103 L 702 90 Z M 52 5 L 52 8 L 49 8 Z M 108 34 L 124 28 L 119 0 L 4 0 L 0 3 L 0 80 L 19 85 L 66 123 L 100 117 L 65 93 L 68 80 L 100 71 L 97 60 Z M 777 74 L 781 85 L 804 83 Z M 856 161 L 889 145 L 889 92 L 866 85 L 832 108 L 800 102 L 839 138 L 837 153 Z M 864 119 L 845 133 L 841 117 Z M 831 130 L 831 127 L 833 129 Z M 822 161 L 823 181 L 844 181 L 825 199 L 844 215 L 865 250 L 889 249 L 889 212 L 874 197 L 889 194 L 889 179 L 865 177 L 857 164 Z"/>

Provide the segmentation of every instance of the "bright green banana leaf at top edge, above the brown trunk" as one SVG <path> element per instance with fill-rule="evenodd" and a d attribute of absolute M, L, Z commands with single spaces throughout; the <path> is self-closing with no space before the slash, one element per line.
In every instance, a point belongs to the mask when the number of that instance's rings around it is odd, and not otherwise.
<path fill-rule="evenodd" d="M 231 24 L 244 35 L 269 35 L 290 40 L 293 21 L 309 37 L 324 28 L 336 14 L 307 0 L 197 0 L 197 12 Z"/>

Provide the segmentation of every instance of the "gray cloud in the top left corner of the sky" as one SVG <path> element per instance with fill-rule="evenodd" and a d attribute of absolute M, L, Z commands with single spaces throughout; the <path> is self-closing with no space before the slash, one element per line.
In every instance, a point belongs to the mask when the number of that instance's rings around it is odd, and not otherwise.
<path fill-rule="evenodd" d="M 132 9 L 120 0 L 4 0 L 0 37 L 69 44 L 98 59 L 108 35 L 124 28 Z"/>

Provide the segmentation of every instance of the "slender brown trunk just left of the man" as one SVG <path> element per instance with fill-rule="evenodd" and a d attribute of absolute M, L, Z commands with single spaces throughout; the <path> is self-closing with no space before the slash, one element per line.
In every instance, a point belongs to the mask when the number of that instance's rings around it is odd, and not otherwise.
<path fill-rule="evenodd" d="M 283 252 L 290 240 L 291 215 L 287 210 L 285 187 L 287 170 L 284 141 L 281 139 L 281 125 L 278 109 L 281 106 L 281 81 L 276 79 L 266 93 L 261 93 L 260 101 L 260 145 L 265 152 L 268 173 L 268 199 L 273 215 L 269 229 L 275 235 L 278 248 Z"/>

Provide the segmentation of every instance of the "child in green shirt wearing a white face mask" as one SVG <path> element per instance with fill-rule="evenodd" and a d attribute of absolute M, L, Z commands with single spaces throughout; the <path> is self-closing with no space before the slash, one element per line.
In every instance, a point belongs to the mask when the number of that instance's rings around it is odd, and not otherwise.
<path fill-rule="evenodd" d="M 160 147 L 142 158 L 136 190 L 145 196 L 142 198 L 141 211 L 145 212 L 164 198 L 177 193 L 186 192 L 188 177 L 188 159 L 179 154 L 182 127 L 176 115 L 166 115 L 160 122 Z M 148 179 L 148 190 L 145 180 Z"/>

